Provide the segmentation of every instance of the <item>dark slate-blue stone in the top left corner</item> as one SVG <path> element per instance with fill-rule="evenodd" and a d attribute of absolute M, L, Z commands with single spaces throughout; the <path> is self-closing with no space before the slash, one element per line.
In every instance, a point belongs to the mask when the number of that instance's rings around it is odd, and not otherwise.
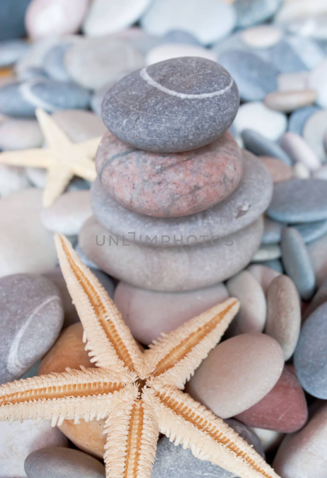
<path fill-rule="evenodd" d="M 0 40 L 24 36 L 25 12 L 30 2 L 31 0 L 0 1 Z"/>

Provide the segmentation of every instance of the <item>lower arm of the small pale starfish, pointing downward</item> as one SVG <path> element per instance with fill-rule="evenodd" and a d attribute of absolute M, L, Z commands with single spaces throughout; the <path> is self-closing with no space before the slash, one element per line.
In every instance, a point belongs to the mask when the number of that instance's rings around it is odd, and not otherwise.
<path fill-rule="evenodd" d="M 49 207 L 66 189 L 74 176 L 73 171 L 63 164 L 54 164 L 48 169 L 44 186 L 42 205 Z"/>

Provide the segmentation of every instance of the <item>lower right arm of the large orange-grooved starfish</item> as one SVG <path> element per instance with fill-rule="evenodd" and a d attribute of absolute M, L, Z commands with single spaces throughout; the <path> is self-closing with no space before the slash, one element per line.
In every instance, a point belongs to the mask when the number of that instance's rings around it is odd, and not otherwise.
<path fill-rule="evenodd" d="M 241 478 L 279 478 L 238 433 L 186 393 L 162 385 L 143 394 L 155 409 L 160 432 L 175 445 L 182 444 L 200 460 L 209 460 Z"/>

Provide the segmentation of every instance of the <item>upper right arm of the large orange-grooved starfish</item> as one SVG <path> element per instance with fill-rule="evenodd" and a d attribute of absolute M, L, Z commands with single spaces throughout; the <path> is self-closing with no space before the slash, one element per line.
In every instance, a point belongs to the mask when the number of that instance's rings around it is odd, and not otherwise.
<path fill-rule="evenodd" d="M 149 383 L 159 380 L 182 389 L 217 345 L 239 307 L 237 299 L 228 299 L 154 341 L 144 352 L 148 375 L 152 375 Z"/>

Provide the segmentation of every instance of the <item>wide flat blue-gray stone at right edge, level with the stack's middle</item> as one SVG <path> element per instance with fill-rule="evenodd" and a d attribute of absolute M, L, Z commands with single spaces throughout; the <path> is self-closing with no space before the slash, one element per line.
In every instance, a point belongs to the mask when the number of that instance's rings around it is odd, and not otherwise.
<path fill-rule="evenodd" d="M 267 216 L 283 223 L 327 219 L 327 184 L 323 179 L 289 179 L 275 183 Z"/>

